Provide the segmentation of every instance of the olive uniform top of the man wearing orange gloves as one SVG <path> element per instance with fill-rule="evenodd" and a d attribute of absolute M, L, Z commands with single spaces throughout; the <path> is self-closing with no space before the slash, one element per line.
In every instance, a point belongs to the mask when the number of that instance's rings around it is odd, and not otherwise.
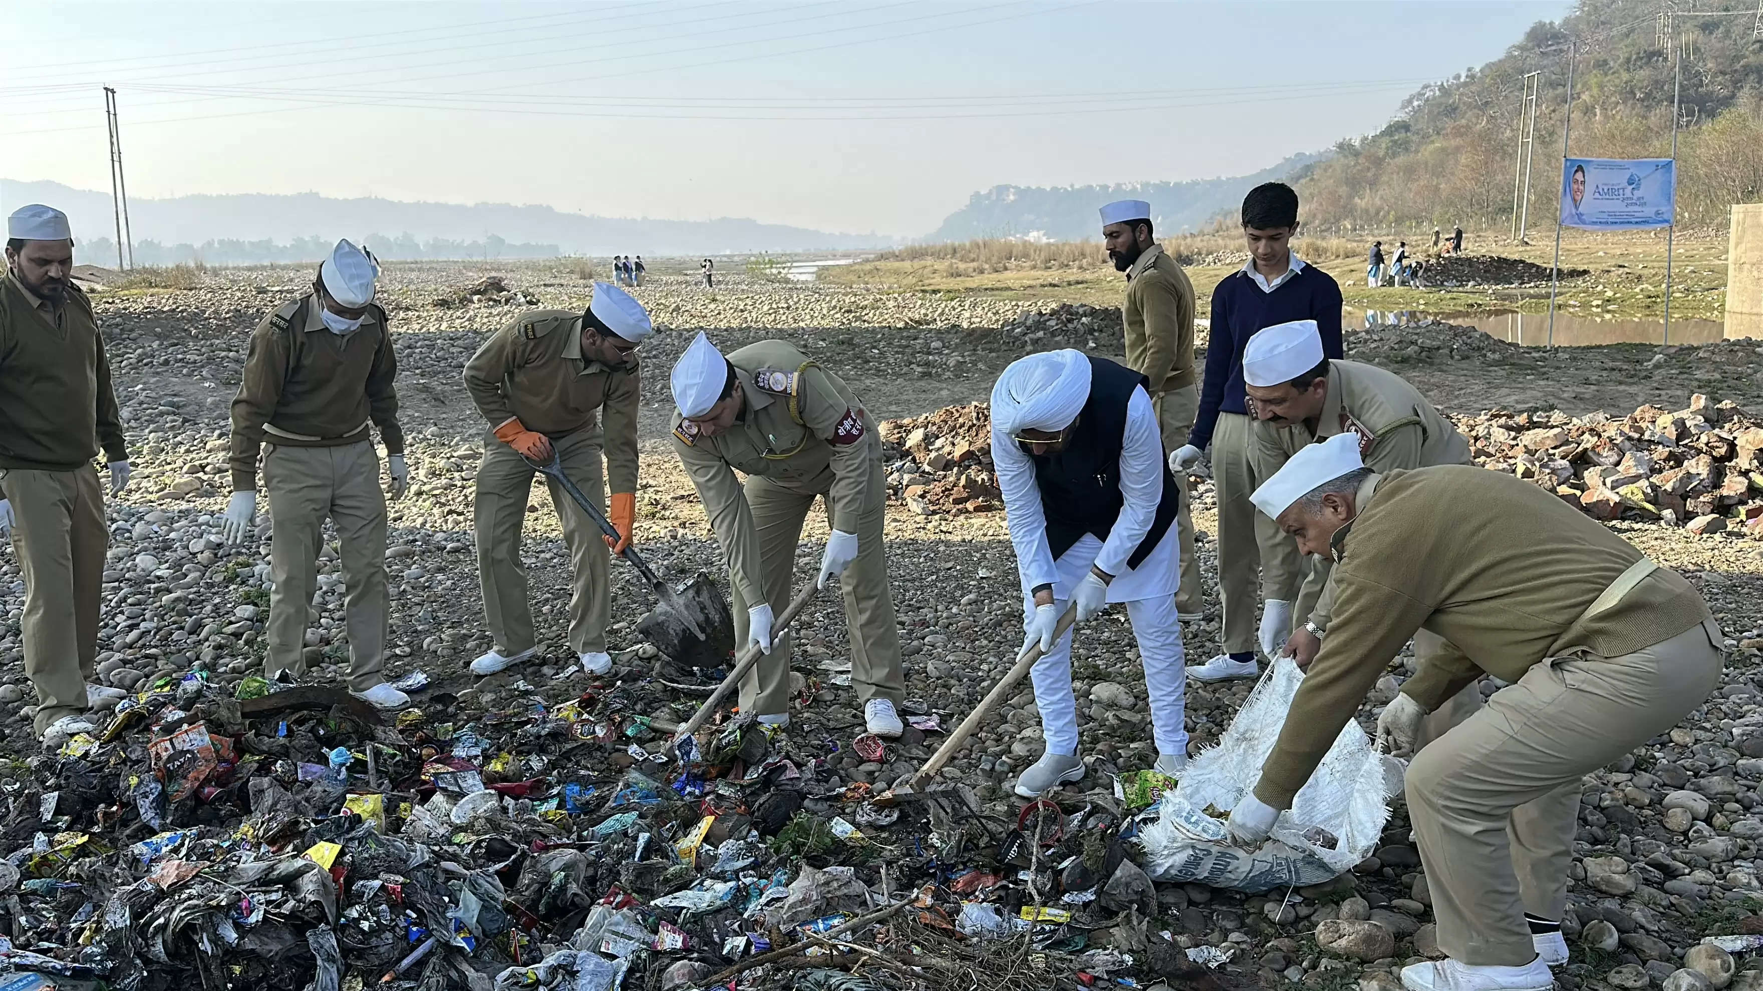
<path fill-rule="evenodd" d="M 582 358 L 582 314 L 517 316 L 465 361 L 465 390 L 490 428 L 520 418 L 527 430 L 566 437 L 606 414 L 606 481 L 636 492 L 636 354 L 621 367 Z"/>

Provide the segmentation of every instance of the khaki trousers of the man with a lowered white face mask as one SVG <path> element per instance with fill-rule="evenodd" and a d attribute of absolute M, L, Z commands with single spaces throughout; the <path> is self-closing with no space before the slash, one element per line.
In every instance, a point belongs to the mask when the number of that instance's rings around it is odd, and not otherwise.
<path fill-rule="evenodd" d="M 263 672 L 307 674 L 305 644 L 324 518 L 342 552 L 344 630 L 349 635 L 349 688 L 367 691 L 384 677 L 386 658 L 386 494 L 372 441 L 335 448 L 264 444 L 263 483 L 270 490 L 270 651 Z"/>

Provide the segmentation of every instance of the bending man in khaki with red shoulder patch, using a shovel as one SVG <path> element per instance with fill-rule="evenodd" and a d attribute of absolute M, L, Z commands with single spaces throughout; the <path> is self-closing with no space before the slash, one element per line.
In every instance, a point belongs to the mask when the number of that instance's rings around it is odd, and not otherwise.
<path fill-rule="evenodd" d="M 852 686 L 869 732 L 901 735 L 896 707 L 906 682 L 882 547 L 882 441 L 869 411 L 783 340 L 723 358 L 700 333 L 673 367 L 672 386 L 673 450 L 728 561 L 735 640 L 765 651 L 740 684 L 742 711 L 763 723 L 790 721 L 790 642 L 772 642 L 772 619 L 790 601 L 802 520 L 822 496 L 832 534 L 818 582 L 843 575 Z M 744 488 L 735 469 L 748 476 Z"/>

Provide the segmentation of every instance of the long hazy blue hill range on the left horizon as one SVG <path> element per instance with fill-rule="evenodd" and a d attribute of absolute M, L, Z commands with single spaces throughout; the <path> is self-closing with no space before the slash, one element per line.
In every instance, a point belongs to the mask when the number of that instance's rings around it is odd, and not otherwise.
<path fill-rule="evenodd" d="M 74 238 L 115 252 L 109 192 L 71 189 L 56 182 L 0 180 L 0 213 L 25 203 L 67 212 Z M 645 220 L 589 217 L 550 206 L 510 203 L 400 203 L 227 194 L 129 199 L 136 261 L 162 265 L 201 257 L 208 263 L 312 261 L 337 238 L 360 238 L 388 259 L 411 257 L 545 257 L 557 254 L 740 254 L 894 247 L 880 235 L 841 235 L 762 224 L 735 217 L 714 220 Z"/>

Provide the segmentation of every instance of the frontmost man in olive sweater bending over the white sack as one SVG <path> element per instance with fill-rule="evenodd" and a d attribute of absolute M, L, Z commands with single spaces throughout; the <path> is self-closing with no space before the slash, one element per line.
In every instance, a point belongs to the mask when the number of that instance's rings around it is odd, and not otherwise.
<path fill-rule="evenodd" d="M 1721 682 L 1696 589 L 1553 492 L 1499 471 L 1377 474 L 1358 437 L 1310 444 L 1255 490 L 1305 554 L 1333 554 L 1335 615 L 1253 792 L 1231 813 L 1268 836 L 1396 651 L 1446 640 L 1377 719 L 1400 753 L 1425 714 L 1491 674 L 1484 709 L 1414 756 L 1409 816 L 1449 959 L 1412 991 L 1548 991 L 1581 778 L 1670 730 Z"/>

